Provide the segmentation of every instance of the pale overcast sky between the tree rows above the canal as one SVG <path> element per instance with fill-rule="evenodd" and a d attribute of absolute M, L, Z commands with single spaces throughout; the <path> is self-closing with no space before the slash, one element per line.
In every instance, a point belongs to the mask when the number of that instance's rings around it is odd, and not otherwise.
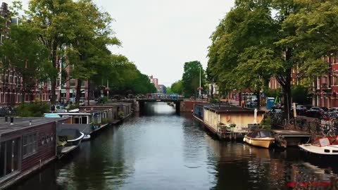
<path fill-rule="evenodd" d="M 209 37 L 234 5 L 234 0 L 93 1 L 114 19 L 111 27 L 122 46 L 111 51 L 167 87 L 182 78 L 185 62 L 201 61 L 206 68 Z"/>

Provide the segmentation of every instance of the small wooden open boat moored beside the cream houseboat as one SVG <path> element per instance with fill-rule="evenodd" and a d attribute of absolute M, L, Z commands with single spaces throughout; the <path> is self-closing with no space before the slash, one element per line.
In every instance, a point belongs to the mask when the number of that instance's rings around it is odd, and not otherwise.
<path fill-rule="evenodd" d="M 256 129 L 244 136 L 244 142 L 253 146 L 269 148 L 275 142 L 275 138 L 270 131 L 265 129 Z"/>

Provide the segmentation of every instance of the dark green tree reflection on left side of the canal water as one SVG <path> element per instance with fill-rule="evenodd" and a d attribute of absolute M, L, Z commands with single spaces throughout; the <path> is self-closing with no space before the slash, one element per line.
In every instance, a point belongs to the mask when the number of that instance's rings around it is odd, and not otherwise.
<path fill-rule="evenodd" d="M 123 184 L 130 175 L 125 166 L 123 140 L 114 140 L 112 128 L 99 135 L 86 142 L 85 150 L 68 168 L 76 189 L 111 189 Z"/>

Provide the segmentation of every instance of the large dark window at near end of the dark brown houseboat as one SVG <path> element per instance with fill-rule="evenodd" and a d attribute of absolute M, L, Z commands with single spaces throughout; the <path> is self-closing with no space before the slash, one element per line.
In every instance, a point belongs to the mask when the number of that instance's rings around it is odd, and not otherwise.
<path fill-rule="evenodd" d="M 20 137 L 0 144 L 0 177 L 15 172 L 19 168 Z"/>

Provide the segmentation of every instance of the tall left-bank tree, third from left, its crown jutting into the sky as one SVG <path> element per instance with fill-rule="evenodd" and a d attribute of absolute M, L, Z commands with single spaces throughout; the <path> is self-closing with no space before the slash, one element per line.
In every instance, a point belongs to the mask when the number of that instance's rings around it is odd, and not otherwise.
<path fill-rule="evenodd" d="M 68 54 L 71 56 L 68 58 L 75 65 L 72 75 L 77 79 L 75 103 L 79 103 L 82 81 L 91 80 L 95 75 L 107 75 L 104 68 L 111 58 L 107 46 L 119 45 L 120 42 L 111 37 L 111 17 L 108 13 L 99 11 L 91 0 L 77 1 L 75 6 L 75 38 L 70 41 Z"/>

